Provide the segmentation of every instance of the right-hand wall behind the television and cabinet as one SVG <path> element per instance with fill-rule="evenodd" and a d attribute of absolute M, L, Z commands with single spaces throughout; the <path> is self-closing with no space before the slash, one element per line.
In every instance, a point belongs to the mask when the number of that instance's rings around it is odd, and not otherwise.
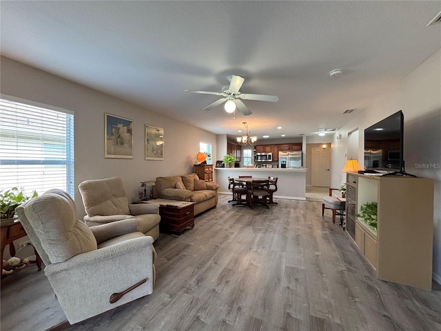
<path fill-rule="evenodd" d="M 348 133 L 359 128 L 358 163 L 363 164 L 365 128 L 402 110 L 404 114 L 404 162 L 406 172 L 435 179 L 433 278 L 441 283 L 441 50 L 409 73 L 397 86 L 384 92 L 366 110 L 336 132 L 332 143 L 334 187 L 344 181 Z M 428 168 L 422 168 L 428 165 Z M 432 166 L 431 166 L 432 165 Z M 418 219 L 415 220 L 418 226 Z"/>

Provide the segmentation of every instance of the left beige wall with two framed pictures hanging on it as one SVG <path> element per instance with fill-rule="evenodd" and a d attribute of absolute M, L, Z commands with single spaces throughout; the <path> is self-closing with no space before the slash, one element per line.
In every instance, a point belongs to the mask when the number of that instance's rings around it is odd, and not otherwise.
<path fill-rule="evenodd" d="M 147 109 L 116 99 L 72 81 L 1 57 L 1 93 L 37 101 L 74 112 L 75 202 L 79 217 L 85 214 L 78 185 L 86 179 L 121 177 L 130 200 L 136 199 L 139 182 L 158 176 L 193 171 L 199 141 L 212 143 L 216 155 L 216 135 L 170 119 Z M 134 122 L 133 159 L 104 158 L 104 112 Z M 144 159 L 144 125 L 164 128 L 164 161 Z M 185 139 L 183 139 L 185 138 Z"/>

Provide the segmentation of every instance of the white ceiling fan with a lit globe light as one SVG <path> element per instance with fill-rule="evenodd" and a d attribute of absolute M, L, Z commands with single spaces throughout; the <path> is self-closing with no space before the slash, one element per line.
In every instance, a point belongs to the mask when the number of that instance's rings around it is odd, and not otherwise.
<path fill-rule="evenodd" d="M 221 105 L 225 102 L 225 111 L 226 112 L 234 112 L 236 107 L 244 114 L 245 116 L 251 115 L 252 112 L 245 106 L 242 100 L 258 100 L 258 101 L 269 101 L 269 102 L 277 102 L 278 97 L 276 95 L 266 95 L 266 94 L 249 94 L 249 93 L 240 93 L 240 87 L 242 86 L 245 79 L 240 76 L 236 76 L 235 74 L 231 74 L 227 77 L 229 81 L 229 86 L 224 86 L 222 92 L 208 92 L 208 91 L 192 91 L 185 90 L 185 92 L 190 93 L 201 93 L 201 94 L 214 94 L 222 99 L 218 99 L 218 101 L 214 101 L 204 110 L 212 110 L 217 106 Z"/>

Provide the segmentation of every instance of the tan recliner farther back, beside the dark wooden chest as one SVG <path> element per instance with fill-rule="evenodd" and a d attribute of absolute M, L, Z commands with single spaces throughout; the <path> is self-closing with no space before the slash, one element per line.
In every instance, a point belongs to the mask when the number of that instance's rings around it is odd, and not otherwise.
<path fill-rule="evenodd" d="M 159 237 L 159 205 L 156 203 L 129 204 L 123 180 L 119 177 L 94 179 L 80 183 L 79 190 L 89 226 L 121 219 L 136 219 L 138 231 L 154 240 Z"/>

